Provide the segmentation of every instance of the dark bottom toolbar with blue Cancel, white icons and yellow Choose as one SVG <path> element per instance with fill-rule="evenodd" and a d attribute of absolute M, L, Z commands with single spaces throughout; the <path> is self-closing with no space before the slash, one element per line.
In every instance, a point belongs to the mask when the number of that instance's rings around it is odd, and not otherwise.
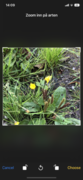
<path fill-rule="evenodd" d="M 3 163 L 1 165 L 2 180 L 52 180 L 80 179 L 82 164 L 77 163 Z"/>

